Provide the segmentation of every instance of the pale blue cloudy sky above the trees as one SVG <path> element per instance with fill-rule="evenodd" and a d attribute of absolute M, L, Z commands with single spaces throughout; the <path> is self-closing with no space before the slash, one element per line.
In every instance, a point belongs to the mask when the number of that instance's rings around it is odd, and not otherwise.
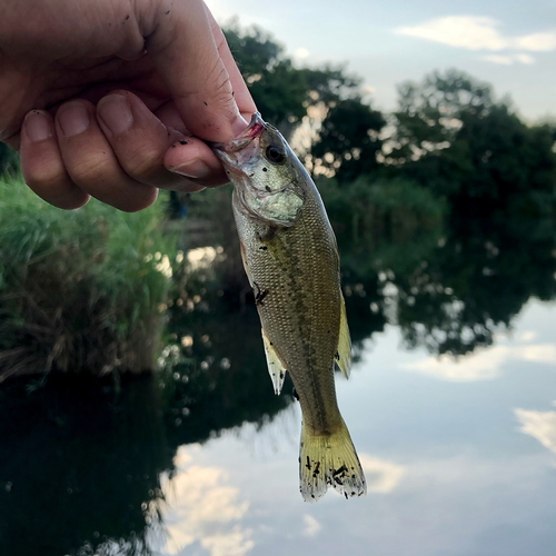
<path fill-rule="evenodd" d="M 220 24 L 237 17 L 264 28 L 299 64 L 346 64 L 385 111 L 400 82 L 457 68 L 509 96 L 529 122 L 556 117 L 552 0 L 206 1 Z"/>

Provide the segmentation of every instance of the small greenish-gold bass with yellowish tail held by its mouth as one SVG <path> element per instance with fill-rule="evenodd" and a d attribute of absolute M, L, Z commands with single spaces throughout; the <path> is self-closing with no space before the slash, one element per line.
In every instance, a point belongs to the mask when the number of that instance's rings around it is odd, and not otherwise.
<path fill-rule="evenodd" d="M 338 247 L 320 195 L 258 112 L 239 136 L 211 148 L 234 183 L 241 258 L 275 393 L 289 373 L 301 407 L 301 496 L 316 502 L 330 486 L 346 498 L 365 495 L 365 474 L 336 399 L 335 368 L 349 376 L 351 344 Z"/>

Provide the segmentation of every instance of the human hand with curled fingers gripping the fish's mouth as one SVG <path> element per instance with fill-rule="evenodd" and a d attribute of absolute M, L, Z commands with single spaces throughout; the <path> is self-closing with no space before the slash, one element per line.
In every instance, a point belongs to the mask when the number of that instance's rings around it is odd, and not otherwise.
<path fill-rule="evenodd" d="M 225 183 L 203 140 L 231 139 L 255 111 L 202 0 L 0 6 L 0 140 L 57 207 L 92 196 L 136 211 L 158 188 Z"/>

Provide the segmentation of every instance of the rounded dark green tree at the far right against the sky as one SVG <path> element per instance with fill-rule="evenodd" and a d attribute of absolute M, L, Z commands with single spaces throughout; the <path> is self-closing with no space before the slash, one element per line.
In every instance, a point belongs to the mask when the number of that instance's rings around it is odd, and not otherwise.
<path fill-rule="evenodd" d="M 458 210 L 486 216 L 556 212 L 556 155 L 549 126 L 526 126 L 490 88 L 456 70 L 400 87 L 387 161 L 446 196 Z"/>

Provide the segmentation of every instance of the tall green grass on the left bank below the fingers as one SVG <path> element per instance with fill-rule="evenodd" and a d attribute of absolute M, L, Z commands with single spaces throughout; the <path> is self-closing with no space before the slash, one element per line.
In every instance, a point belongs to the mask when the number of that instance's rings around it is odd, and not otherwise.
<path fill-rule="evenodd" d="M 158 207 L 127 215 L 96 201 L 64 212 L 20 180 L 0 182 L 4 374 L 152 368 L 173 248 L 159 218 Z"/>

